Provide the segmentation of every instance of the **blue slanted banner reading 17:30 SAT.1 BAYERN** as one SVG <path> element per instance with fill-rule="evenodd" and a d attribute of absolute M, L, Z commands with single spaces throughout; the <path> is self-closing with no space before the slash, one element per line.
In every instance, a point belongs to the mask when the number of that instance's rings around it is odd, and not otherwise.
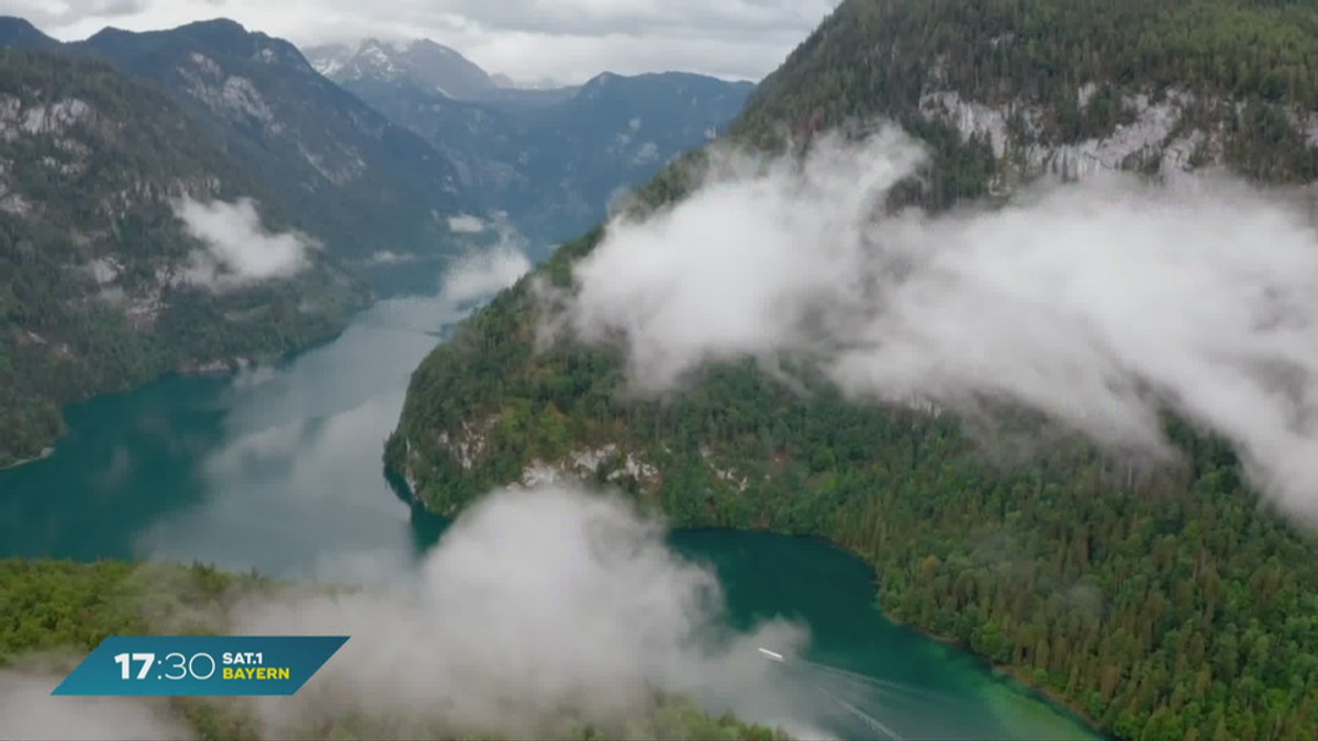
<path fill-rule="evenodd" d="M 291 695 L 347 636 L 112 636 L 53 695 Z"/>

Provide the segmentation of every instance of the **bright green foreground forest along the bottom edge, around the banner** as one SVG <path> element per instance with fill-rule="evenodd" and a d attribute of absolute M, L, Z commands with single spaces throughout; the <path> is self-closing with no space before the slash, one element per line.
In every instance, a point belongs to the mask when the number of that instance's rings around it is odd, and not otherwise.
<path fill-rule="evenodd" d="M 231 575 L 203 566 L 51 560 L 0 560 L 0 584 L 5 585 L 0 592 L 0 688 L 5 688 L 5 682 L 14 676 L 7 676 L 7 670 L 30 671 L 37 665 L 45 665 L 47 671 L 66 674 L 109 636 L 223 634 L 224 616 L 240 599 L 304 589 L 258 575 Z M 59 658 L 67 658 L 63 662 L 66 666 L 58 663 Z M 55 662 L 54 666 L 51 662 Z M 41 678 L 46 679 L 45 672 Z M 0 708 L 4 708 L 4 697 L 0 697 Z M 167 708 L 181 726 L 203 741 L 453 737 L 443 716 L 436 715 L 432 707 L 418 707 L 411 717 L 401 713 L 362 717 L 343 711 L 343 716 L 332 723 L 308 721 L 273 733 L 272 725 L 262 723 L 253 707 L 241 699 L 169 697 Z M 132 716 L 123 713 L 116 717 L 120 723 L 130 723 L 125 719 Z M 0 736 L 7 736 L 9 721 L 12 719 L 0 713 Z M 127 733 L 127 729 L 115 728 L 113 732 Z M 567 717 L 554 737 L 588 741 L 623 736 L 635 741 L 787 740 L 780 730 L 745 724 L 731 715 L 716 720 L 689 699 L 663 695 L 656 695 L 648 716 L 630 721 L 625 729 Z"/>

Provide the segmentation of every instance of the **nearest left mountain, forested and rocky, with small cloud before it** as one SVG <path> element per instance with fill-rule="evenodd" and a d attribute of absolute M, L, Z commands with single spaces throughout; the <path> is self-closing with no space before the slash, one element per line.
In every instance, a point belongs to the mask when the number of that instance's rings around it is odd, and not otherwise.
<path fill-rule="evenodd" d="M 0 465 L 63 405 L 270 359 L 369 299 L 169 95 L 0 49 Z"/>

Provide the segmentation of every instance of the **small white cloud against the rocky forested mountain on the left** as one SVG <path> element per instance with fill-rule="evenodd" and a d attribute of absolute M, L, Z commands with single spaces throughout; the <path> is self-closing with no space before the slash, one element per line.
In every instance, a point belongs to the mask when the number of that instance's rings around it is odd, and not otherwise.
<path fill-rule="evenodd" d="M 188 282 L 237 287 L 290 278 L 310 264 L 306 237 L 293 232 L 268 233 L 252 199 L 200 203 L 185 196 L 174 203 L 174 214 L 187 233 L 206 245 L 191 256 L 185 276 Z"/>

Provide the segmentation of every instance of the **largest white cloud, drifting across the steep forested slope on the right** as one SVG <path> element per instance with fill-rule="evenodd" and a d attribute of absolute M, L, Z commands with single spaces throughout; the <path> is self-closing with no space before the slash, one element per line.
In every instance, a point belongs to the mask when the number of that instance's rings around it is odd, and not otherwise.
<path fill-rule="evenodd" d="M 1111 175 L 1000 210 L 880 218 L 924 149 L 828 136 L 804 162 L 724 150 L 708 182 L 613 222 L 556 316 L 625 338 L 637 385 L 799 353 L 855 396 L 974 413 L 1006 400 L 1165 451 L 1170 407 L 1318 514 L 1318 235 L 1280 193 Z"/>

